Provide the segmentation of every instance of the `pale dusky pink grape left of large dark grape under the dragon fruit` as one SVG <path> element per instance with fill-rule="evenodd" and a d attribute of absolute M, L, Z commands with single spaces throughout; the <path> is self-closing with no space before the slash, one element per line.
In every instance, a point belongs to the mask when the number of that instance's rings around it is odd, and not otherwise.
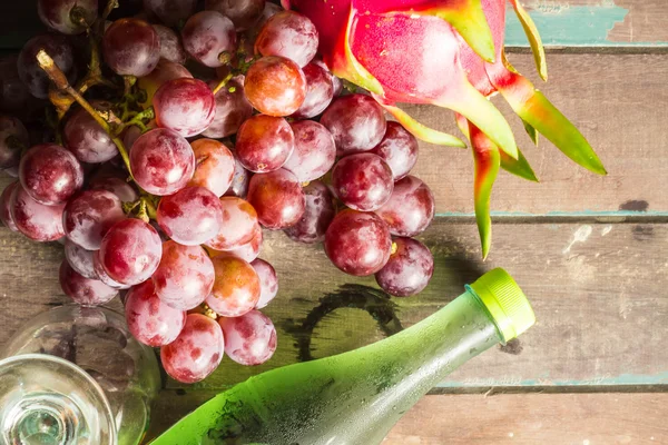
<path fill-rule="evenodd" d="M 332 134 L 313 120 L 298 120 L 291 125 L 295 135 L 295 149 L 283 165 L 299 182 L 325 175 L 336 160 L 336 146 Z"/>

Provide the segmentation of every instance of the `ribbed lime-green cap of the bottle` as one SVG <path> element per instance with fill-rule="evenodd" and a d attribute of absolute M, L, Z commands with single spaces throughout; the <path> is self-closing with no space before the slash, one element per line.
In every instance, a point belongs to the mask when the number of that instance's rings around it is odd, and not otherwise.
<path fill-rule="evenodd" d="M 488 271 L 471 288 L 490 312 L 504 342 L 515 338 L 536 323 L 524 293 L 505 270 L 497 268 Z"/>

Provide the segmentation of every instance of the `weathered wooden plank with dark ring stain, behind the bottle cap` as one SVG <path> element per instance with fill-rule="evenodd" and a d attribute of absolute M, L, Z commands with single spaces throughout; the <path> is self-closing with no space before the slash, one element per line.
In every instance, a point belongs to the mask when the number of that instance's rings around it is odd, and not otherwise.
<path fill-rule="evenodd" d="M 668 317 L 668 225 L 498 224 L 487 263 L 480 260 L 472 224 L 439 219 L 421 238 L 435 256 L 431 285 L 418 297 L 387 300 L 373 277 L 337 271 L 320 246 L 267 233 L 262 256 L 276 267 L 281 290 L 265 312 L 277 326 L 278 349 L 259 367 L 225 359 L 196 386 L 222 388 L 298 359 L 381 339 L 438 310 L 465 283 L 497 266 L 517 277 L 538 324 L 509 347 L 464 365 L 441 386 L 668 383 L 668 332 L 662 328 Z M 31 315 L 65 299 L 57 284 L 60 247 L 37 245 L 7 229 L 0 230 L 0 245 L 6 295 L 0 299 L 1 347 Z"/>

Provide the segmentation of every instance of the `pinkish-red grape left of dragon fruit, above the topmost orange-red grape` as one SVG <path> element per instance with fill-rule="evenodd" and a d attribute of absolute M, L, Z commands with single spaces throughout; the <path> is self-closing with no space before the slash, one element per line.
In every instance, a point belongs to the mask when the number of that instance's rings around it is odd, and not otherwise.
<path fill-rule="evenodd" d="M 317 52 L 317 29 L 306 16 L 281 11 L 262 27 L 255 40 L 255 52 L 285 57 L 304 67 Z"/>

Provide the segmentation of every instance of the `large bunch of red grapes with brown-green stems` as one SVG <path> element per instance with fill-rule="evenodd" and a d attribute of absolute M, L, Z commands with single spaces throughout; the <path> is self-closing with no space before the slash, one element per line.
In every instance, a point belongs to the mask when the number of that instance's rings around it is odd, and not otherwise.
<path fill-rule="evenodd" d="M 258 258 L 263 229 L 324 243 L 337 268 L 391 295 L 426 286 L 433 258 L 412 237 L 434 199 L 410 175 L 418 142 L 343 90 L 307 18 L 264 0 L 145 0 L 116 18 L 115 0 L 38 4 L 56 32 L 0 79 L 0 168 L 18 176 L 0 219 L 62 240 L 76 303 L 124 294 L 132 335 L 161 348 L 171 377 L 202 380 L 224 354 L 272 357 L 259 309 L 278 281 Z"/>

